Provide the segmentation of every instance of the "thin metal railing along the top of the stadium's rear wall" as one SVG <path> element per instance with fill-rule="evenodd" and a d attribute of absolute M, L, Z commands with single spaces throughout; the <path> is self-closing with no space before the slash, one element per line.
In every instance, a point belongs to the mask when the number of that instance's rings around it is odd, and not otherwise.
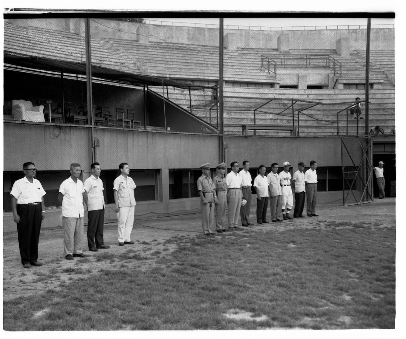
<path fill-rule="evenodd" d="M 194 23 L 180 21 L 164 21 L 145 19 L 145 23 L 150 25 L 162 26 L 180 26 L 180 27 L 196 27 L 196 28 L 215 28 L 219 25 L 214 23 Z M 393 24 L 371 25 L 371 28 L 395 28 Z M 248 26 L 248 25 L 224 25 L 225 30 L 257 30 L 257 31 L 296 31 L 296 30 L 363 30 L 367 29 L 367 25 L 326 25 L 326 26 Z"/>

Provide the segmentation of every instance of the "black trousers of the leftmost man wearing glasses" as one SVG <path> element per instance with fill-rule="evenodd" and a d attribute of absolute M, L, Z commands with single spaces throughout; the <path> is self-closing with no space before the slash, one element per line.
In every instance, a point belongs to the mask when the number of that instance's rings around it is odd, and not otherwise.
<path fill-rule="evenodd" d="M 42 209 L 39 205 L 17 205 L 20 222 L 17 224 L 18 247 L 21 263 L 28 264 L 38 259 L 39 231 L 41 230 Z"/>

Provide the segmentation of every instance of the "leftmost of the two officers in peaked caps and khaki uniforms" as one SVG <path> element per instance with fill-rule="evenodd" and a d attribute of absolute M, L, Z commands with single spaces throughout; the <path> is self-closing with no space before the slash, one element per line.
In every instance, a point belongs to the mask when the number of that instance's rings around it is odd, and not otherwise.
<path fill-rule="evenodd" d="M 213 235 L 214 228 L 214 204 L 218 203 L 216 186 L 210 177 L 210 164 L 200 166 L 202 175 L 197 179 L 197 190 L 200 195 L 200 208 L 202 211 L 202 227 L 205 235 Z"/>

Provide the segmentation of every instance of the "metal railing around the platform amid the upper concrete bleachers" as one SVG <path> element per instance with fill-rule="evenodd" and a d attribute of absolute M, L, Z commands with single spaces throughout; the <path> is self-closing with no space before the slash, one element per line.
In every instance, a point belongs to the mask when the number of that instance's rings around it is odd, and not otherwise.
<path fill-rule="evenodd" d="M 328 68 L 341 76 L 341 62 L 330 55 L 266 54 L 261 55 L 261 67 L 276 75 L 277 67 Z"/>

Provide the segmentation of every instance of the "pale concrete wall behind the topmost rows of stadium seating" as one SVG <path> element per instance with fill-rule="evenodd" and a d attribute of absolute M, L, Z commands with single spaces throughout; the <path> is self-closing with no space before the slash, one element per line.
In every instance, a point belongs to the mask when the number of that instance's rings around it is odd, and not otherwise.
<path fill-rule="evenodd" d="M 71 20 L 71 21 L 69 21 Z M 13 19 L 21 26 L 51 28 L 75 32 L 84 36 L 83 19 Z M 103 25 L 103 26 L 102 26 Z M 141 24 L 106 19 L 92 19 L 91 35 L 98 38 L 119 38 L 138 40 L 137 28 Z M 107 27 L 106 27 L 107 26 Z M 180 26 L 145 25 L 149 27 L 149 41 L 186 43 L 218 46 L 218 29 Z M 144 32 L 144 30 L 143 30 Z M 335 49 L 340 38 L 348 38 L 350 50 L 366 49 L 366 29 L 350 30 L 295 30 L 258 31 L 224 30 L 224 34 L 235 33 L 237 47 L 276 49 L 279 35 L 289 36 L 289 49 Z M 393 28 L 371 29 L 371 49 L 395 49 L 395 30 Z"/>

